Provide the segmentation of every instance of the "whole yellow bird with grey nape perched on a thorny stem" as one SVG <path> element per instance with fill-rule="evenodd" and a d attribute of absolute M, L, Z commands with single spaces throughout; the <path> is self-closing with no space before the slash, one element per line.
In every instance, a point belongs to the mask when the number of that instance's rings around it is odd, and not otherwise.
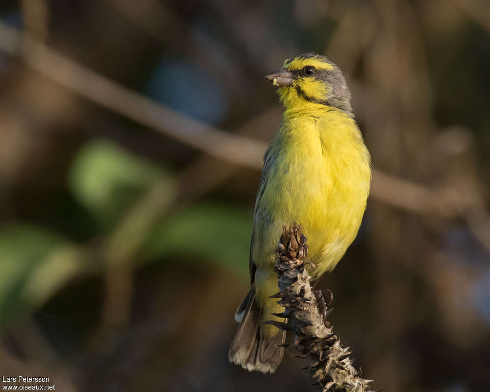
<path fill-rule="evenodd" d="M 285 333 L 266 320 L 283 319 L 277 299 L 276 249 L 283 225 L 300 224 L 314 276 L 332 270 L 354 241 L 371 182 L 369 152 L 354 120 L 341 70 L 305 53 L 266 79 L 279 86 L 283 122 L 264 156 L 250 244 L 250 291 L 239 306 L 231 362 L 272 373 Z"/>

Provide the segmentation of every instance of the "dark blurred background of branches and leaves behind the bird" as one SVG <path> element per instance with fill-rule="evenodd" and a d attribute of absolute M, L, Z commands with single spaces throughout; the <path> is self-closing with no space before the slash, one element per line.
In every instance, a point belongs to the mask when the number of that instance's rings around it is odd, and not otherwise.
<path fill-rule="evenodd" d="M 330 320 L 376 388 L 490 390 L 486 0 L 2 0 L 2 376 L 310 391 L 289 354 L 227 359 L 281 121 L 263 76 L 307 51 L 343 70 L 374 166 Z"/>

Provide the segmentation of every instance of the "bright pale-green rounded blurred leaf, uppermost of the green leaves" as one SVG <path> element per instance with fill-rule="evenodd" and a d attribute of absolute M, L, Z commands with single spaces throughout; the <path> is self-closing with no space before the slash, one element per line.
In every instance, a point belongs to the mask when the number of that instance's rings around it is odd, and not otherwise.
<path fill-rule="evenodd" d="M 136 197 L 156 179 L 171 176 L 134 156 L 115 143 L 95 140 L 76 155 L 70 173 L 75 198 L 107 228 L 117 220 Z"/>

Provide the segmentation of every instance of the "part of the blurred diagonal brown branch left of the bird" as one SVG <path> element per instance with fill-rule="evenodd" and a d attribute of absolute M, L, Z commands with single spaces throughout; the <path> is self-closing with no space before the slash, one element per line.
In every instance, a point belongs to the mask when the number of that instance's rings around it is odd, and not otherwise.
<path fill-rule="evenodd" d="M 12 43 L 20 42 L 20 33 L 3 23 L 0 26 L 0 33 L 6 32 L 9 38 L 7 45 L 0 41 L 0 49 L 16 53 L 18 49 L 13 48 Z M 27 37 L 21 48 L 20 54 L 29 67 L 92 102 L 217 158 L 241 166 L 262 168 L 262 156 L 267 147 L 264 142 L 223 132 L 193 120 Z"/>

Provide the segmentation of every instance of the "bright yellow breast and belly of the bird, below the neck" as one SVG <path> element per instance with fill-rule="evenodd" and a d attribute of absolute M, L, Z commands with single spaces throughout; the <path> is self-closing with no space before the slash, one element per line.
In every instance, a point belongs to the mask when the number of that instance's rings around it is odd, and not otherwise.
<path fill-rule="evenodd" d="M 268 151 L 254 215 L 252 260 L 274 265 L 284 224 L 301 224 L 316 273 L 331 270 L 357 235 L 370 158 L 355 121 L 319 105 L 286 110 Z"/>

